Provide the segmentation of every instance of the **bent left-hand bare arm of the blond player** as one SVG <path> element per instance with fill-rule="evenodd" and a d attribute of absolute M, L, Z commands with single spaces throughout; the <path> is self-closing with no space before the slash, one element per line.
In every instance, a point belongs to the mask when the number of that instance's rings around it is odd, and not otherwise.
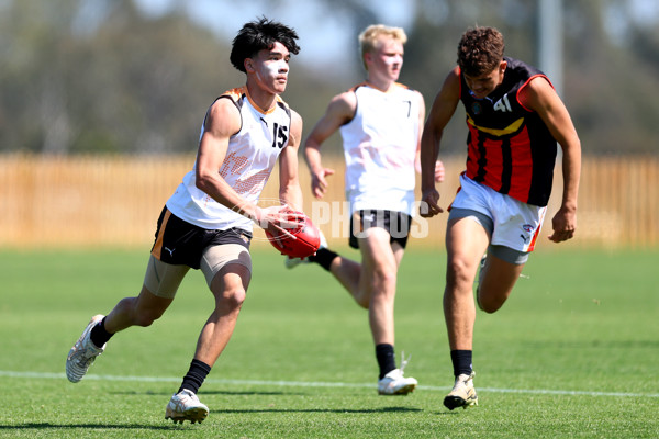
<path fill-rule="evenodd" d="M 321 146 L 345 123 L 349 122 L 357 109 L 357 97 L 351 91 L 340 93 L 330 102 L 323 117 L 315 124 L 304 143 L 304 158 L 311 172 L 311 192 L 322 199 L 327 190 L 325 177 L 332 176 L 334 169 L 324 168 L 321 160 Z"/>

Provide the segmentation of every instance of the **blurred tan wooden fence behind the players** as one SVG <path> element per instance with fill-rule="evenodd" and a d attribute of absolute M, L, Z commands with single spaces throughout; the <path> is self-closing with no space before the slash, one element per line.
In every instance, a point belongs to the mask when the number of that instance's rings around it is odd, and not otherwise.
<path fill-rule="evenodd" d="M 46 157 L 0 156 L 0 248 L 149 247 L 165 201 L 194 156 Z M 347 236 L 343 160 L 325 203 L 313 201 L 309 172 L 301 165 L 304 210 L 320 223 L 332 245 Z M 445 161 L 447 180 L 438 185 L 446 206 L 457 190 L 463 159 Z M 561 194 L 557 167 L 555 189 L 543 235 Z M 261 200 L 277 198 L 276 172 Z M 659 245 L 659 159 L 656 157 L 585 158 L 579 200 L 577 237 L 567 247 L 656 247 Z M 440 247 L 446 216 L 418 218 L 411 246 Z M 263 245 L 256 233 L 255 246 Z"/>

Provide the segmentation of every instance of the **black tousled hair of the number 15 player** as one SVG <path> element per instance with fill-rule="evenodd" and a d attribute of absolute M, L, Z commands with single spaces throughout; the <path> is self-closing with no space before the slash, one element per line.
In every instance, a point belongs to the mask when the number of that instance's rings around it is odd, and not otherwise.
<path fill-rule="evenodd" d="M 283 44 L 291 54 L 297 55 L 300 47 L 295 40 L 298 40 L 298 33 L 293 29 L 261 16 L 258 20 L 245 23 L 243 29 L 238 31 L 233 40 L 230 56 L 231 64 L 245 72 L 246 58 L 252 58 L 259 50 L 272 47 L 277 42 Z"/>

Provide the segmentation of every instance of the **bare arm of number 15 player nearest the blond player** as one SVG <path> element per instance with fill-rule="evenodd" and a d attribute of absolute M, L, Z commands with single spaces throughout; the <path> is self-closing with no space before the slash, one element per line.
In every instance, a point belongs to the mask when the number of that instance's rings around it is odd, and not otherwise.
<path fill-rule="evenodd" d="M 279 200 L 295 211 L 302 210 L 302 189 L 298 170 L 298 150 L 302 137 L 302 117 L 291 110 L 288 145 L 279 155 Z"/>

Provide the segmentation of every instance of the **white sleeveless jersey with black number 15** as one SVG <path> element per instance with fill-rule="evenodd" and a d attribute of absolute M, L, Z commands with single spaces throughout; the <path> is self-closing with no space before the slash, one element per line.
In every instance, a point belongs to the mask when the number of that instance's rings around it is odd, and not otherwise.
<path fill-rule="evenodd" d="M 242 198 L 256 203 L 279 154 L 288 145 L 290 109 L 278 97 L 275 108 L 264 112 L 252 101 L 246 87 L 228 90 L 217 99 L 231 99 L 238 108 L 242 120 L 241 131 L 228 139 L 226 156 L 217 172 Z M 204 126 L 205 117 L 200 139 Z M 252 232 L 252 219 L 217 203 L 197 188 L 196 168 L 197 162 L 167 201 L 167 209 L 179 218 L 202 228 L 224 230 L 237 227 Z"/>

